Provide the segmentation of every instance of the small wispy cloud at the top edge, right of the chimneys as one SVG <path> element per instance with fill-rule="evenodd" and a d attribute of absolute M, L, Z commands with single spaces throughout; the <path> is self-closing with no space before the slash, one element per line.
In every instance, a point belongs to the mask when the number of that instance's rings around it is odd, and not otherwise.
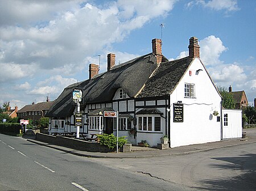
<path fill-rule="evenodd" d="M 203 7 L 207 7 L 212 10 L 220 11 L 237 11 L 240 8 L 237 5 L 236 0 L 211 0 L 211 1 L 204 1 L 204 0 L 196 0 L 187 3 L 187 7 L 193 7 L 196 5 L 201 5 Z"/>

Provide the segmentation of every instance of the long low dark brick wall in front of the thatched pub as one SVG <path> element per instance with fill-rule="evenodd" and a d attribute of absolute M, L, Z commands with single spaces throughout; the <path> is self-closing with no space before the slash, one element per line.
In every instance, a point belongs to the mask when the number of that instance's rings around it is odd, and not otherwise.
<path fill-rule="evenodd" d="M 36 133 L 36 140 L 50 143 L 53 145 L 73 148 L 79 151 L 88 151 L 88 152 L 113 152 L 115 150 L 110 150 L 108 147 L 104 145 L 100 145 L 100 143 L 94 143 L 89 141 L 83 141 L 80 139 L 69 138 L 69 137 L 61 137 L 59 135 L 47 135 L 43 133 Z"/>

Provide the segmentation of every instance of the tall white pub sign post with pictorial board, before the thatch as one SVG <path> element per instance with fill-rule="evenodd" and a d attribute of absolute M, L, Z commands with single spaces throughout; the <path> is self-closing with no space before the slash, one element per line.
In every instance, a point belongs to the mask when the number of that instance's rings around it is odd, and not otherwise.
<path fill-rule="evenodd" d="M 74 89 L 73 90 L 73 102 L 77 104 L 77 113 L 76 113 L 76 138 L 79 139 L 80 126 L 82 126 L 82 114 L 80 113 L 80 102 L 82 100 L 82 90 Z"/>

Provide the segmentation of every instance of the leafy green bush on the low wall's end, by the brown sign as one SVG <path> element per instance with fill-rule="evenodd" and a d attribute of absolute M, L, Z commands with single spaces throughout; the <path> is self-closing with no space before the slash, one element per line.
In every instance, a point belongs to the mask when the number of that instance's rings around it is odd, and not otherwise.
<path fill-rule="evenodd" d="M 109 147 L 110 149 L 113 149 L 117 147 L 117 137 L 112 134 L 101 134 L 98 135 L 98 138 L 100 139 L 100 144 L 105 145 Z M 123 137 L 118 137 L 118 147 L 122 147 L 124 144 L 127 143 L 127 139 L 125 136 Z"/>

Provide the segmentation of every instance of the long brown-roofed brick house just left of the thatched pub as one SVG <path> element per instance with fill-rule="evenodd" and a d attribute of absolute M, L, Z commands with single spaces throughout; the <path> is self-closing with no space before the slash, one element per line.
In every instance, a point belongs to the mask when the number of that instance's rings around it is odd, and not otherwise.
<path fill-rule="evenodd" d="M 54 101 L 49 101 L 49 99 L 47 99 L 46 102 L 25 105 L 17 112 L 17 116 L 23 120 L 31 119 L 34 123 L 36 120 L 46 116 L 49 108 L 51 108 L 53 103 Z"/>

